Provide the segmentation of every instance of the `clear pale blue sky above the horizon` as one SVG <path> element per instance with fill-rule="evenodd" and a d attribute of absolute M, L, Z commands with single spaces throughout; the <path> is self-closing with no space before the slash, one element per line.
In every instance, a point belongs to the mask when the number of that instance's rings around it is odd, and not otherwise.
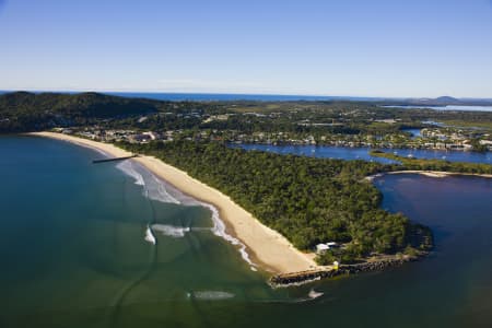
<path fill-rule="evenodd" d="M 492 98 L 492 0 L 0 0 L 0 90 Z"/>

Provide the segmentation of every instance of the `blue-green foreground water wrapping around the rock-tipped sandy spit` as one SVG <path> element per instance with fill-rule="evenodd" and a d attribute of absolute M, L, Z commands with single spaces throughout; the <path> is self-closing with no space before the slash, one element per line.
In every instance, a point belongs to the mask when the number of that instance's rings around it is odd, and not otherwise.
<path fill-rule="evenodd" d="M 101 154 L 38 138 L 0 138 L 0 327 L 492 325 L 490 179 L 376 179 L 383 207 L 435 231 L 435 251 L 271 290 L 209 209 L 140 167 L 93 165 Z"/>

